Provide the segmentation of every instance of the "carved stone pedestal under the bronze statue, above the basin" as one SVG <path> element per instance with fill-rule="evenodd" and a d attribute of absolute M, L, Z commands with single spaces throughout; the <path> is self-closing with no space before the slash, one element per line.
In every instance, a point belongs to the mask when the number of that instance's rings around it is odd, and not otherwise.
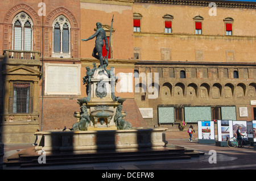
<path fill-rule="evenodd" d="M 90 71 L 88 69 L 88 71 Z M 117 129 L 114 123 L 114 116 L 117 107 L 120 103 L 113 100 L 114 92 L 111 89 L 112 77 L 109 72 L 98 68 L 92 69 L 93 75 L 85 77 L 85 82 L 88 85 L 88 97 L 86 101 L 79 100 L 80 106 L 86 106 L 90 121 L 87 130 L 109 130 Z M 114 82 L 113 82 L 114 83 Z M 79 112 L 76 112 L 75 117 L 80 117 Z M 97 129 L 99 128 L 99 129 Z"/>

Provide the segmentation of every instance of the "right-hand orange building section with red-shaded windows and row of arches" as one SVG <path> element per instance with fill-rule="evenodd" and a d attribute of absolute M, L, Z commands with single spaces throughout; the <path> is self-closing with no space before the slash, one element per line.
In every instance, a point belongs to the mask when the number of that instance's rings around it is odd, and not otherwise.
<path fill-rule="evenodd" d="M 135 1 L 133 11 L 135 71 L 158 73 L 154 90 L 143 75 L 135 85 L 148 125 L 256 119 L 255 2 Z"/>

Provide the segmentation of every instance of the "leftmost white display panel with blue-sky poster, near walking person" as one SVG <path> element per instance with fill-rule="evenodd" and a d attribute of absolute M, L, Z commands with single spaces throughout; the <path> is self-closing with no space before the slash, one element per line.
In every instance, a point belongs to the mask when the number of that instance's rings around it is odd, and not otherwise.
<path fill-rule="evenodd" d="M 199 143 L 215 143 L 214 121 L 198 121 Z"/>

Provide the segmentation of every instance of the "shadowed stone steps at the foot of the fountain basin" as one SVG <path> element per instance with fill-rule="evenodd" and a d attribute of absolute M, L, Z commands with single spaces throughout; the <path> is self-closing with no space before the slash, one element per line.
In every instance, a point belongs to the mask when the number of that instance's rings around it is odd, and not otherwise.
<path fill-rule="evenodd" d="M 90 154 L 56 153 L 46 155 L 46 163 L 40 164 L 40 155 L 20 154 L 18 158 L 9 158 L 6 166 L 36 167 L 36 166 L 57 166 L 74 165 L 86 163 L 106 163 L 106 162 L 129 162 L 129 161 L 154 161 L 165 159 L 189 159 L 199 157 L 200 153 L 184 148 L 164 149 L 164 150 L 137 150 L 127 152 L 100 151 Z"/>

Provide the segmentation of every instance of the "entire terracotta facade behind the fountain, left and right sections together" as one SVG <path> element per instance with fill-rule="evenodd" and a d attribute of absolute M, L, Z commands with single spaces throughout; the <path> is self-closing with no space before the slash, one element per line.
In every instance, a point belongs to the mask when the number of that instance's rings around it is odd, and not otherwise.
<path fill-rule="evenodd" d="M 115 67 L 116 95 L 126 99 L 123 111 L 133 127 L 255 119 L 255 2 L 3 0 L 1 5 L 4 143 L 32 143 L 36 129 L 71 128 L 76 122 L 77 99 L 86 96 L 85 67 L 99 65 L 92 57 L 94 40 L 81 41 L 93 35 L 96 22 L 110 40 L 108 68 Z"/>

